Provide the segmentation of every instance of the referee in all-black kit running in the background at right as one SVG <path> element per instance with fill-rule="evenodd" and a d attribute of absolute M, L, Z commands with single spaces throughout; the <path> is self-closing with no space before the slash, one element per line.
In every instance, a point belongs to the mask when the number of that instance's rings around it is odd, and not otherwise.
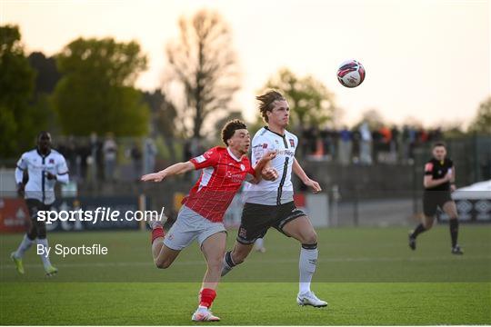
<path fill-rule="evenodd" d="M 451 192 L 456 190 L 456 167 L 449 158 L 446 158 L 446 146 L 436 143 L 433 146 L 433 158 L 425 164 L 425 178 L 423 181 L 423 223 L 416 226 L 409 234 L 409 247 L 416 250 L 416 237 L 433 226 L 435 213 L 438 207 L 449 217 L 450 237 L 452 240 L 452 253 L 464 254 L 457 244 L 458 215 L 456 203 L 452 200 Z"/>

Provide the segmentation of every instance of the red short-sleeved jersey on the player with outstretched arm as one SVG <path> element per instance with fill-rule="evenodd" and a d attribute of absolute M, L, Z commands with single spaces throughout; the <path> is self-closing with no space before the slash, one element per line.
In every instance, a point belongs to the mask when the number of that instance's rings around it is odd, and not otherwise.
<path fill-rule="evenodd" d="M 239 159 L 228 148 L 215 146 L 190 161 L 203 171 L 183 204 L 212 222 L 222 222 L 247 174 L 255 175 L 249 159 L 246 155 Z"/>

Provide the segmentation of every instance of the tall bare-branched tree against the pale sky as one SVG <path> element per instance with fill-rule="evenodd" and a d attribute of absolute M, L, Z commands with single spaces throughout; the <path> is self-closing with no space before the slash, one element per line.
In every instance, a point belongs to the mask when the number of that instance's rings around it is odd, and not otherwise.
<path fill-rule="evenodd" d="M 179 28 L 180 38 L 166 47 L 166 81 L 181 91 L 181 99 L 175 99 L 181 104 L 181 128 L 200 138 L 206 119 L 229 110 L 239 88 L 232 34 L 220 15 L 206 10 L 181 17 Z"/>

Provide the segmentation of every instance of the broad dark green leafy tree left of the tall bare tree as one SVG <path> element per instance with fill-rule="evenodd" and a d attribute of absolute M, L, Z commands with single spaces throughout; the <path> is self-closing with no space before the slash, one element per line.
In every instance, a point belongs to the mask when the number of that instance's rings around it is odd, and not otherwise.
<path fill-rule="evenodd" d="M 133 87 L 146 57 L 135 42 L 78 38 L 56 57 L 62 78 L 53 103 L 65 134 L 136 136 L 147 132 L 149 110 Z"/>

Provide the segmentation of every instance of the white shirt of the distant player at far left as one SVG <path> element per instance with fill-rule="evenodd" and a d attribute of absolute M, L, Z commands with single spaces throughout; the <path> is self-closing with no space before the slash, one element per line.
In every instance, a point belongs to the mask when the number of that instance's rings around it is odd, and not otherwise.
<path fill-rule="evenodd" d="M 26 199 L 54 203 L 56 181 L 68 183 L 65 157 L 55 150 L 46 155 L 40 154 L 37 149 L 22 154 L 15 169 L 15 183 L 22 183 L 25 171 L 29 175 L 29 181 L 25 184 Z M 48 180 L 47 173 L 53 173 L 56 179 Z"/>

